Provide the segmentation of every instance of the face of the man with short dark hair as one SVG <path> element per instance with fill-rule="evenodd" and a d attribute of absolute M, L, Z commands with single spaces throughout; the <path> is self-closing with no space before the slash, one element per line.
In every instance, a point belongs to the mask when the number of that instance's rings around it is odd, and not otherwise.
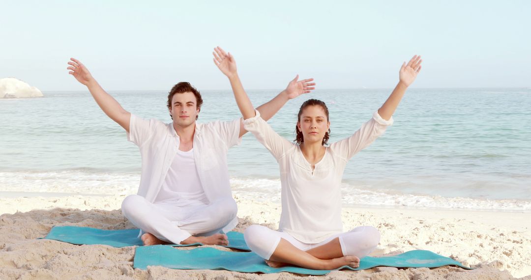
<path fill-rule="evenodd" d="M 173 117 L 173 123 L 177 126 L 187 127 L 194 124 L 195 116 L 199 114 L 195 95 L 189 91 L 174 94 L 169 113 Z"/>

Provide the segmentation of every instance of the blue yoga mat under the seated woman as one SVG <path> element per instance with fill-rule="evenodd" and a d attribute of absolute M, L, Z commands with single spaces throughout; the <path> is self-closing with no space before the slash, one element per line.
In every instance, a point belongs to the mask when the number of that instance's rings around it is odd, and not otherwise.
<path fill-rule="evenodd" d="M 456 260 L 425 250 L 413 250 L 390 257 L 364 257 L 359 262 L 358 268 L 344 266 L 338 269 L 360 270 L 375 266 L 431 268 L 446 265 L 456 265 L 470 269 Z M 175 269 L 230 270 L 247 273 L 292 272 L 306 275 L 324 275 L 331 271 L 293 266 L 272 268 L 265 264 L 264 259 L 253 252 L 227 252 L 211 247 L 192 250 L 178 250 L 160 245 L 136 247 L 133 267 L 147 269 L 148 266 L 163 266 Z"/>

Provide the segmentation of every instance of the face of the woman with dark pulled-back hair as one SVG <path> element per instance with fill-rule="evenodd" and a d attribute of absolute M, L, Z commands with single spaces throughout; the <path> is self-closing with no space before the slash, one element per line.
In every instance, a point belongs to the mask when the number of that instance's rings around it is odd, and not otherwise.
<path fill-rule="evenodd" d="M 302 132 L 304 143 L 322 143 L 324 134 L 330 128 L 330 122 L 321 106 L 308 106 L 303 109 L 301 120 L 297 122 L 298 129 Z"/>

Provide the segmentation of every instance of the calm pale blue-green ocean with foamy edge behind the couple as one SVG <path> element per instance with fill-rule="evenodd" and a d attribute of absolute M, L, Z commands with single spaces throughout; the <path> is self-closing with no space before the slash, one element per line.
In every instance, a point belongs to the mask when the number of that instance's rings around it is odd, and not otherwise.
<path fill-rule="evenodd" d="M 169 89 L 168 89 L 169 90 Z M 391 89 L 315 90 L 290 100 L 269 123 L 295 138 L 298 108 L 321 99 L 329 143 L 369 120 Z M 255 107 L 280 90 L 250 90 Z M 138 147 L 88 91 L 0 99 L 0 192 L 135 193 Z M 239 117 L 232 91 L 202 91 L 199 121 Z M 166 91 L 110 91 L 143 118 L 171 121 Z M 409 89 L 395 124 L 347 164 L 345 206 L 531 212 L 531 89 Z M 248 133 L 229 150 L 238 199 L 280 201 L 278 164 Z"/>

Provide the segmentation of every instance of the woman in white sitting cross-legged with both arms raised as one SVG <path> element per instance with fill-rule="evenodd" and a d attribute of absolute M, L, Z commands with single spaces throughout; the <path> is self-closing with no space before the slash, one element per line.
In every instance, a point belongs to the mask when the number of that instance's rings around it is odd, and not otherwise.
<path fill-rule="evenodd" d="M 311 269 L 356 268 L 380 241 L 372 226 L 342 231 L 340 183 L 347 161 L 369 146 L 393 123 L 392 114 L 421 70 L 420 56 L 400 68 L 400 81 L 387 101 L 352 136 L 325 146 L 330 133 L 328 108 L 310 99 L 298 112 L 296 144 L 279 136 L 254 110 L 237 78 L 234 57 L 216 48 L 214 62 L 229 77 L 244 128 L 280 165 L 282 213 L 278 231 L 251 225 L 247 246 L 272 267 L 297 265 Z M 234 73 L 228 69 L 234 68 Z"/>

